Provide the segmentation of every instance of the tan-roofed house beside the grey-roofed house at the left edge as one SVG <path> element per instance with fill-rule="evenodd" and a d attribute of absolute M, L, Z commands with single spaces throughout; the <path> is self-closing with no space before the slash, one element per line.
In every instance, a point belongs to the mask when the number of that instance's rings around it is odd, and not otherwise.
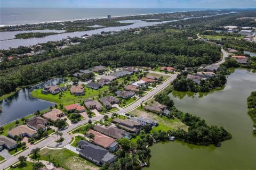
<path fill-rule="evenodd" d="M 28 126 L 25 126 L 23 124 L 8 131 L 8 135 L 12 138 L 14 138 L 15 135 L 20 135 L 22 138 L 25 136 L 33 138 L 35 137 L 36 133 L 36 130 L 28 128 Z"/>

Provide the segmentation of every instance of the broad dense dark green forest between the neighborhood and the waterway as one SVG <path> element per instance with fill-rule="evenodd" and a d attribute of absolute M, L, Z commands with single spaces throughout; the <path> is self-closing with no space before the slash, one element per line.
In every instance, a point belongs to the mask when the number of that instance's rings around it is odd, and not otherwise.
<path fill-rule="evenodd" d="M 164 29 L 147 29 L 139 35 L 123 31 L 118 35 L 82 39 L 81 45 L 62 50 L 53 49 L 52 43 L 49 42 L 43 44 L 47 53 L 36 56 L 36 58 L 45 57 L 44 62 L 37 60 L 36 63 L 22 65 L 13 60 L 14 63 L 9 69 L 6 69 L 8 62 L 1 64 L 5 69 L 2 68 L 4 70 L 0 75 L 0 95 L 13 91 L 17 87 L 62 76 L 64 72 L 73 73 L 96 65 L 150 66 L 152 68 L 170 65 L 184 68 L 218 61 L 220 48 L 202 41 L 187 39 L 188 36 L 193 35 L 195 36 L 195 33 L 191 31 L 166 32 Z M 10 52 L 18 54 L 19 50 L 28 50 L 28 47 L 3 50 L 3 54 L 6 56 Z M 27 58 L 24 60 L 26 61 Z"/>

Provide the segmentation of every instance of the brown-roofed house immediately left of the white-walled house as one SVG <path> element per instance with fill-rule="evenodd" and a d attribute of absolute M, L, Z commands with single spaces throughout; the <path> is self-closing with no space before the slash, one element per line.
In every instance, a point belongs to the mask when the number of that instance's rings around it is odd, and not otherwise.
<path fill-rule="evenodd" d="M 129 119 L 122 120 L 120 118 L 115 118 L 113 122 L 119 124 L 120 128 L 125 129 L 129 132 L 139 133 L 140 131 L 140 123 L 138 122 Z"/>

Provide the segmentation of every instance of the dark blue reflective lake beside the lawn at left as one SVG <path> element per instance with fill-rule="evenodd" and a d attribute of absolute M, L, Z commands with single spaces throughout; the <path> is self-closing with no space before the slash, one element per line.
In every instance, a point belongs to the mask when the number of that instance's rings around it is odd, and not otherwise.
<path fill-rule="evenodd" d="M 54 103 L 41 100 L 31 96 L 30 92 L 34 89 L 40 89 L 47 85 L 55 85 L 56 83 L 63 83 L 63 79 L 52 79 L 28 89 L 21 89 L 14 95 L 0 101 L 2 106 L 2 113 L 0 114 L 0 126 L 6 123 L 15 121 L 21 117 L 35 113 L 37 110 L 42 111 Z"/>

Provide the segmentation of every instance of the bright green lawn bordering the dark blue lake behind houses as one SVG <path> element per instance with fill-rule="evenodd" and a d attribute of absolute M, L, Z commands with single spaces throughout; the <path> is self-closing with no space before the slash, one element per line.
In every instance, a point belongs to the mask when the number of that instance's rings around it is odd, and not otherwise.
<path fill-rule="evenodd" d="M 63 105 L 69 105 L 69 104 L 74 104 L 74 103 L 79 103 L 80 101 L 83 100 L 89 100 L 94 97 L 98 97 L 100 93 L 103 93 L 104 91 L 108 90 L 107 86 L 103 86 L 102 88 L 98 90 L 90 89 L 85 87 L 85 95 L 83 96 L 75 96 L 71 95 L 69 90 L 66 90 L 63 93 L 63 96 L 59 98 L 59 94 L 57 95 L 52 95 L 52 94 L 42 94 L 41 90 L 42 89 L 37 89 L 31 92 L 31 95 L 36 98 L 44 99 L 47 101 L 52 101 L 53 103 L 58 103 L 58 104 L 63 104 Z"/>

